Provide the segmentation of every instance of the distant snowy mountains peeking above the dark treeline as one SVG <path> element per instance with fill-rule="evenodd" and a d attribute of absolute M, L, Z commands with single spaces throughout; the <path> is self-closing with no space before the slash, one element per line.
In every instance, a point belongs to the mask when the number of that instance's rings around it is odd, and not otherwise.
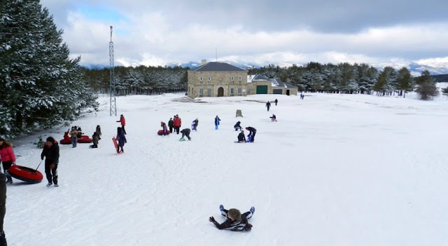
<path fill-rule="evenodd" d="M 235 61 L 235 60 L 234 61 L 225 61 L 225 62 L 232 64 L 235 67 L 239 67 L 241 69 L 260 68 L 262 66 L 267 65 L 267 64 L 257 64 L 255 62 L 240 62 L 240 61 Z M 167 67 L 178 66 L 178 67 L 189 67 L 191 69 L 191 68 L 199 67 L 200 65 L 201 65 L 200 62 L 169 63 L 169 64 L 167 64 Z M 289 66 L 292 66 L 293 64 L 283 63 L 283 64 L 275 64 L 275 65 L 278 65 L 279 67 L 289 67 Z M 302 65 L 302 64 L 297 64 L 297 65 Z M 106 65 L 102 65 L 102 64 L 88 64 L 88 65 L 83 65 L 83 67 L 85 67 L 87 69 L 104 69 L 104 68 L 109 68 L 109 65 L 106 66 Z M 378 67 L 378 68 L 383 69 L 383 67 Z M 437 67 L 435 67 L 434 65 L 430 66 L 427 64 L 418 64 L 416 62 L 412 62 L 407 65 L 407 68 L 411 71 L 411 73 L 414 76 L 418 76 L 424 70 L 428 70 L 431 75 L 448 74 L 448 63 L 447 64 L 439 63 L 439 64 L 437 64 Z"/>

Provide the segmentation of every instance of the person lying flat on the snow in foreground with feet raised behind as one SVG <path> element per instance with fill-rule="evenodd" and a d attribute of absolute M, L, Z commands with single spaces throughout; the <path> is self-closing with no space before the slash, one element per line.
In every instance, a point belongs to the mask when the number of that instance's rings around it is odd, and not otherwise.
<path fill-rule="evenodd" d="M 219 206 L 219 210 L 221 210 L 221 215 L 225 217 L 225 221 L 222 224 L 216 222 L 213 216 L 209 217 L 209 221 L 213 223 L 216 228 L 230 231 L 251 231 L 252 225 L 248 223 L 248 219 L 251 219 L 253 213 L 255 213 L 255 207 L 251 207 L 251 209 L 244 214 L 241 214 L 236 208 L 226 210 L 223 205 Z"/>

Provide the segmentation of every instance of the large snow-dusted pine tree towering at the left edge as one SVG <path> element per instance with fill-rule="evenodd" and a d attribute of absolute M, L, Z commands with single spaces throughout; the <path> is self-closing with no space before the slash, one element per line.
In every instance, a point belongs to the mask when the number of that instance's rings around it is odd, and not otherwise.
<path fill-rule="evenodd" d="M 50 128 L 73 120 L 83 107 L 94 106 L 94 95 L 81 79 L 48 9 L 38 0 L 10 0 L 1 8 L 0 81 L 8 93 L 1 98 L 8 125 L 0 133 L 15 137 L 35 128 Z"/>

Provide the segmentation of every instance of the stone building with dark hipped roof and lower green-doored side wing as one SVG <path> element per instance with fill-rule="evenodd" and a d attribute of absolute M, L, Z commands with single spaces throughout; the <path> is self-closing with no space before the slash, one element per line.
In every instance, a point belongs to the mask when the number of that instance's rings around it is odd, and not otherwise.
<path fill-rule="evenodd" d="M 247 71 L 225 62 L 202 61 L 200 67 L 188 70 L 188 96 L 232 97 L 255 94 L 297 95 L 297 87 L 279 78 L 247 75 Z"/>

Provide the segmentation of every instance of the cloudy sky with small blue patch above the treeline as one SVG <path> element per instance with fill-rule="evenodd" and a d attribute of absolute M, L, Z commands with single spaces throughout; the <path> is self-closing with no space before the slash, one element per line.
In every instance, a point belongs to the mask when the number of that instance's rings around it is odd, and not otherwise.
<path fill-rule="evenodd" d="M 448 64 L 446 0 L 41 0 L 81 64 Z"/>

